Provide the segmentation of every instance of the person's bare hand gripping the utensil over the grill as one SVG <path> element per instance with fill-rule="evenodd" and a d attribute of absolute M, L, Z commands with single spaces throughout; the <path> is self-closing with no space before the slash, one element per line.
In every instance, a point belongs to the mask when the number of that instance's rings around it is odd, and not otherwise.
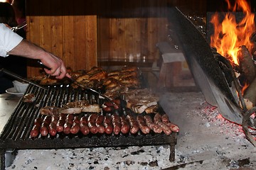
<path fill-rule="evenodd" d="M 50 52 L 46 52 L 41 56 L 41 62 L 49 69 L 44 69 L 46 74 L 50 74 L 54 76 L 56 79 L 63 79 L 64 77 L 70 78 L 70 74 L 68 74 L 67 69 L 59 57 L 51 54 Z"/>

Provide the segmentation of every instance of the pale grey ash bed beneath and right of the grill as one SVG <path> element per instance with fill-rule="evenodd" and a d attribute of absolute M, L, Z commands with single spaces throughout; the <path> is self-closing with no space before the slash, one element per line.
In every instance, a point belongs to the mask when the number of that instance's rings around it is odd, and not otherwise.
<path fill-rule="evenodd" d="M 201 92 L 164 93 L 159 102 L 180 132 L 175 161 L 169 146 L 19 150 L 11 169 L 246 169 L 256 167 L 256 148 L 242 127 L 225 120 Z"/>

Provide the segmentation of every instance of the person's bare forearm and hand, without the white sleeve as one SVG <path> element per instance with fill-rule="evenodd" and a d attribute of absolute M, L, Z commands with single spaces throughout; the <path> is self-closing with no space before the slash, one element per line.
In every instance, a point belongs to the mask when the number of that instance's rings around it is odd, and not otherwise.
<path fill-rule="evenodd" d="M 27 40 L 22 40 L 16 47 L 8 52 L 8 55 L 18 55 L 41 60 L 43 64 L 50 68 L 50 70 L 45 69 L 46 74 L 55 76 L 57 79 L 62 79 L 65 76 L 70 78 L 63 60 Z"/>

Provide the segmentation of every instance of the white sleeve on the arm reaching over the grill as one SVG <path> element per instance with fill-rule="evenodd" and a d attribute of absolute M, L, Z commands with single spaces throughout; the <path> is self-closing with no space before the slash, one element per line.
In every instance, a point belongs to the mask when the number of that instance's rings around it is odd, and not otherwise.
<path fill-rule="evenodd" d="M 10 28 L 6 27 L 4 23 L 0 23 L 0 56 L 7 57 L 8 52 L 16 47 L 23 38 L 14 33 Z"/>

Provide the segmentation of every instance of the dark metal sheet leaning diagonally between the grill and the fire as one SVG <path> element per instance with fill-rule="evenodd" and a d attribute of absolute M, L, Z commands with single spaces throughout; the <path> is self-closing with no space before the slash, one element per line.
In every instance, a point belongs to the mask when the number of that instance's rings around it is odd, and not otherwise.
<path fill-rule="evenodd" d="M 235 101 L 227 81 L 213 56 L 206 38 L 196 26 L 176 7 L 169 10 L 170 28 L 176 35 L 178 47 L 191 69 L 196 84 L 201 88 L 206 101 L 218 107 L 224 118 L 241 124 L 242 110 Z"/>

